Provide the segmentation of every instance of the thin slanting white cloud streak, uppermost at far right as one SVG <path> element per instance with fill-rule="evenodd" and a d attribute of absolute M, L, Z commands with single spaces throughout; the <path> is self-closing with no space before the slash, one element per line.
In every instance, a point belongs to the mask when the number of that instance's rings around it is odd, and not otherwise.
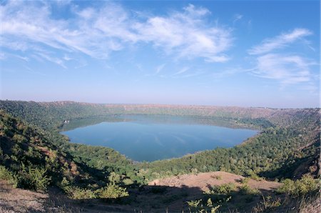
<path fill-rule="evenodd" d="M 298 39 L 302 39 L 305 36 L 310 36 L 312 32 L 308 29 L 297 28 L 289 33 L 280 34 L 272 39 L 265 39 L 258 46 L 253 46 L 253 48 L 248 50 L 249 54 L 265 54 L 267 52 L 273 51 L 275 49 L 282 49 L 288 44 L 291 44 Z"/>

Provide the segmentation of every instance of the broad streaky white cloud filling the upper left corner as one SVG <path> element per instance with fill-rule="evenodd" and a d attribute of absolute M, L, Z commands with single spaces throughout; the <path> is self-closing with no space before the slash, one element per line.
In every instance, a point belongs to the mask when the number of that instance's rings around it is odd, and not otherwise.
<path fill-rule="evenodd" d="M 133 40 L 126 31 L 126 12 L 108 4 L 102 9 L 74 11 L 76 19 L 52 19 L 50 7 L 16 4 L 1 6 L 1 38 L 9 40 L 11 49 L 34 49 L 43 46 L 65 52 L 78 51 L 93 58 L 106 59 L 111 51 Z M 129 39 L 128 39 L 129 38 Z M 1 42 L 4 44 L 3 42 Z"/>

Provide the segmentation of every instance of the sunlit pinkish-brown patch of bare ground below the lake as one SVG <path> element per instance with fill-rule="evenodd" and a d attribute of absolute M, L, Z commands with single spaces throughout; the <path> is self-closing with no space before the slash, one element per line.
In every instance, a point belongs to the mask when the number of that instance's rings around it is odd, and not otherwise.
<path fill-rule="evenodd" d="M 241 185 L 241 180 L 245 177 L 229 172 L 205 172 L 199 174 L 183 174 L 165 179 L 156 179 L 150 182 L 150 186 L 167 186 L 167 187 L 198 187 L 203 191 L 210 189 L 210 186 L 219 186 L 222 184 L 233 183 L 236 186 Z M 278 182 L 269 182 L 265 180 L 250 179 L 248 182 L 250 187 L 259 190 L 272 191 L 280 187 Z"/>

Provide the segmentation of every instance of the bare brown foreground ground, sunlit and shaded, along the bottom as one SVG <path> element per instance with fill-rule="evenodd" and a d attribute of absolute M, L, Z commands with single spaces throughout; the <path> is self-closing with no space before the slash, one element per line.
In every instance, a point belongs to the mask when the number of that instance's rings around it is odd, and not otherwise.
<path fill-rule="evenodd" d="M 132 209 L 142 209 L 146 212 L 162 212 L 166 207 L 170 209 L 170 212 L 180 212 L 183 209 L 188 210 L 186 200 L 204 197 L 204 192 L 209 192 L 213 187 L 225 184 L 232 187 L 231 190 L 233 192 L 228 194 L 238 197 L 238 199 L 233 198 L 231 202 L 226 203 L 225 208 L 241 208 L 250 211 L 260 201 L 259 192 L 263 192 L 267 196 L 273 194 L 273 189 L 280 186 L 280 183 L 277 182 L 253 179 L 246 179 L 248 183 L 245 184 L 244 181 L 242 183 L 244 179 L 242 176 L 228 172 L 209 172 L 156 180 L 156 185 L 152 182 L 149 186 L 143 187 L 141 192 L 131 189 L 131 201 L 127 201 L 130 202 L 130 205 L 128 203 L 127 205 L 108 204 L 99 200 L 77 202 L 64 197 L 63 194 L 56 194 L 55 199 L 52 196 L 55 193 L 53 189 L 49 189 L 49 193 L 30 192 L 22 189 L 12 189 L 8 184 L 0 182 L 0 197 L 2 197 L 0 201 L 4 204 L 3 208 L 9 210 L 11 207 L 14 211 L 19 212 L 29 212 L 32 210 L 58 212 L 58 206 L 62 204 L 65 204 L 66 208 L 70 211 L 76 212 L 80 210 L 83 212 L 132 212 Z M 173 184 L 173 182 L 180 182 L 180 184 Z M 248 187 L 246 188 L 248 192 L 245 192 L 245 187 L 243 187 L 245 185 Z M 238 192 L 239 190 L 242 192 Z M 244 194 L 247 195 L 244 196 Z M 16 200 L 17 196 L 24 200 L 24 202 L 18 202 Z M 225 197 L 225 195 L 222 194 L 221 197 Z M 162 202 L 159 202 L 159 199 Z M 247 207 L 238 206 L 238 202 L 245 202 L 243 199 L 248 199 Z M 91 207 L 89 207 L 90 204 Z"/>

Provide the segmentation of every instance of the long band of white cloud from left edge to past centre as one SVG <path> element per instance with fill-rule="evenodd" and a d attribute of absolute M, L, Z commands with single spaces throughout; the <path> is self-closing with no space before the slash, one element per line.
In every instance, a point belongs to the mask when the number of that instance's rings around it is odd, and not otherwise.
<path fill-rule="evenodd" d="M 71 6 L 72 2 L 63 6 Z M 81 52 L 106 59 L 128 45 L 153 44 L 178 59 L 228 61 L 224 53 L 233 41 L 230 30 L 206 21 L 210 11 L 192 4 L 166 16 L 138 18 L 122 6 L 104 2 L 101 8 L 71 6 L 74 18 L 54 19 L 50 4 L 8 1 L 0 6 L 1 46 L 16 51 L 50 49 L 51 54 Z M 3 42 L 4 41 L 4 42 Z M 61 57 L 61 56 L 60 56 Z M 58 56 L 50 56 L 50 59 Z M 45 57 L 49 60 L 49 57 Z M 61 57 L 63 59 L 63 57 Z M 50 61 L 50 60 L 49 60 Z M 53 61 L 53 60 L 51 60 Z"/>

